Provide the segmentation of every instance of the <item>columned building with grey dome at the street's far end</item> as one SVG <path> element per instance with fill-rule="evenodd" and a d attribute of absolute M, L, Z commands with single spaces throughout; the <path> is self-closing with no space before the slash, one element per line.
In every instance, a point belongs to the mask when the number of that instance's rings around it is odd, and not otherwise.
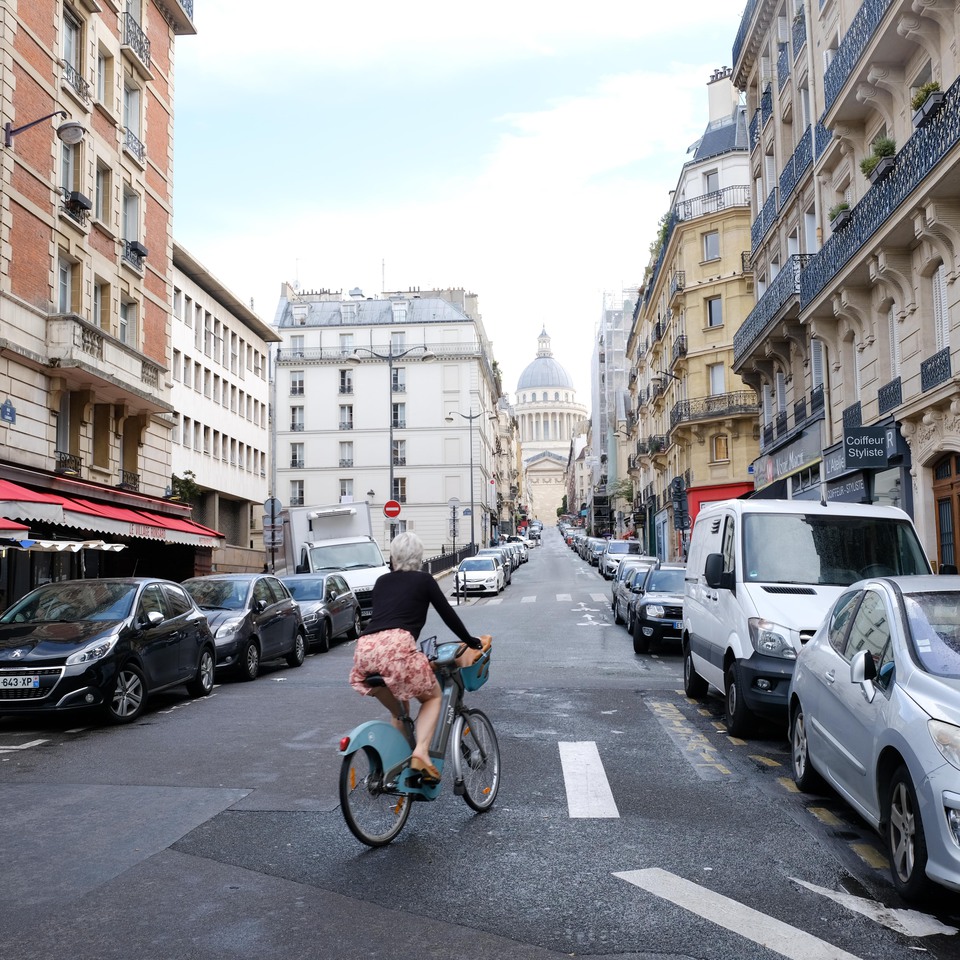
<path fill-rule="evenodd" d="M 583 431 L 587 410 L 577 403 L 570 374 L 553 357 L 544 329 L 537 356 L 517 381 L 515 404 L 523 453 L 523 502 L 529 516 L 552 523 L 566 491 L 570 441 Z"/>

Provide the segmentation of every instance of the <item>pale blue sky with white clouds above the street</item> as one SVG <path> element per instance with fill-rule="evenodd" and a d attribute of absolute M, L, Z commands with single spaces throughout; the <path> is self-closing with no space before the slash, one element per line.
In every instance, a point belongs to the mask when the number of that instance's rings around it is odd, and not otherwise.
<path fill-rule="evenodd" d="M 589 407 L 744 0 L 196 0 L 174 236 L 273 322 L 303 290 L 463 287 L 511 395 L 546 328 Z"/>

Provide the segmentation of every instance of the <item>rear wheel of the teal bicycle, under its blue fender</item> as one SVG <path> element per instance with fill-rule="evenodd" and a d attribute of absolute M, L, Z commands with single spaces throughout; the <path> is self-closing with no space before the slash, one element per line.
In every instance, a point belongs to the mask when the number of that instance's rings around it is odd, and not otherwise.
<path fill-rule="evenodd" d="M 343 758 L 340 809 L 350 832 L 368 847 L 386 846 L 410 816 L 410 798 L 383 789 L 383 766 L 372 750 Z"/>

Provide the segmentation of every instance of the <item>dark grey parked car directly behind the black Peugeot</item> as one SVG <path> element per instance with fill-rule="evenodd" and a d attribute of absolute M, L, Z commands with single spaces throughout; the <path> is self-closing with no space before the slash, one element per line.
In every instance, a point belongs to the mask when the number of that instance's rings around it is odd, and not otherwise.
<path fill-rule="evenodd" d="M 307 631 L 297 601 L 277 577 L 224 573 L 185 580 L 184 589 L 207 615 L 217 642 L 217 666 L 256 680 L 260 664 L 286 658 L 299 667 Z"/>

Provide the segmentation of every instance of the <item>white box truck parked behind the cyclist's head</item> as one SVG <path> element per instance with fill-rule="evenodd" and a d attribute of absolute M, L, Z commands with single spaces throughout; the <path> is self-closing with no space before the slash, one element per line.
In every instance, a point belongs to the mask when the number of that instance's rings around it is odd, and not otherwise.
<path fill-rule="evenodd" d="M 360 602 L 364 620 L 369 620 L 373 584 L 389 570 L 380 545 L 373 538 L 370 505 L 360 501 L 290 507 L 283 511 L 281 519 L 282 572 L 342 573 Z"/>

